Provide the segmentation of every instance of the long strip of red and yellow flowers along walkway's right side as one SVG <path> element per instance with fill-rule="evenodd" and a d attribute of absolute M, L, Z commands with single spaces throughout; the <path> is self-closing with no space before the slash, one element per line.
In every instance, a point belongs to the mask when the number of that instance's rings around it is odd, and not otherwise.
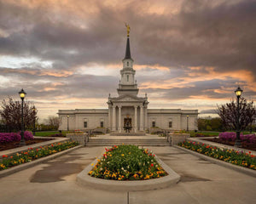
<path fill-rule="evenodd" d="M 241 167 L 247 167 L 256 170 L 256 159 L 250 151 L 248 154 L 242 151 L 240 152 L 237 150 L 220 149 L 215 146 L 190 141 L 184 141 L 178 145 L 189 150 L 197 151 L 198 153 L 206 156 L 211 156 L 213 158 L 227 161 Z"/>

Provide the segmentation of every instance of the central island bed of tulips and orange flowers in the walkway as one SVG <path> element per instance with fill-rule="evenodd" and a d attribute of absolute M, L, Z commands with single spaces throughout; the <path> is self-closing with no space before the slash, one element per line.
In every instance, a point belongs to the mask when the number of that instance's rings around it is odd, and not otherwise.
<path fill-rule="evenodd" d="M 94 166 L 94 164 L 92 164 Z M 145 180 L 166 176 L 152 151 L 135 145 L 114 145 L 97 160 L 90 176 L 113 180 Z"/>

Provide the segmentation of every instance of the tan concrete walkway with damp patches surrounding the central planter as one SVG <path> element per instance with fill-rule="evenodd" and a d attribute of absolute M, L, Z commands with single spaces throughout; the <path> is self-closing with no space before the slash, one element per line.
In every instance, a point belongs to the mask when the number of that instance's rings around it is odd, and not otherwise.
<path fill-rule="evenodd" d="M 167 189 L 137 192 L 79 186 L 76 175 L 104 150 L 103 147 L 84 147 L 0 178 L 0 203 L 255 203 L 256 178 L 201 160 L 174 147 L 148 148 L 182 176 L 180 183 Z"/>

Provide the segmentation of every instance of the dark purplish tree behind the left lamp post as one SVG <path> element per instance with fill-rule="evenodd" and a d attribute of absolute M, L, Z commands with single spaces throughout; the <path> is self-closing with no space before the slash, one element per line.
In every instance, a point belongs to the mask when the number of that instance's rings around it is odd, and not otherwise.
<path fill-rule="evenodd" d="M 14 100 L 9 97 L 9 100 L 3 99 L 1 103 L 2 110 L 0 115 L 3 124 L 9 131 L 18 131 L 21 129 L 21 101 Z M 29 101 L 24 101 L 24 125 L 25 128 L 30 128 L 33 123 L 38 120 L 37 110 L 33 110 L 34 105 Z"/>

